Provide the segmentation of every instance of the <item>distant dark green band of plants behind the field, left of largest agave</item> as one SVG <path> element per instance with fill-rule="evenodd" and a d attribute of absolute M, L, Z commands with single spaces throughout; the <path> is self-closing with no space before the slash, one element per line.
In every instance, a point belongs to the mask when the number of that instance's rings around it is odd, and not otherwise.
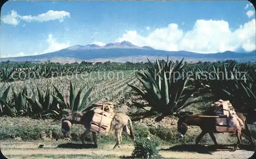
<path fill-rule="evenodd" d="M 57 63 L 24 63 L 0 64 L 0 81 L 12 82 L 17 80 L 33 80 L 60 76 L 77 75 L 91 72 L 104 72 L 114 70 L 141 70 L 145 66 L 136 63 L 102 63 L 89 64 L 57 64 Z"/>

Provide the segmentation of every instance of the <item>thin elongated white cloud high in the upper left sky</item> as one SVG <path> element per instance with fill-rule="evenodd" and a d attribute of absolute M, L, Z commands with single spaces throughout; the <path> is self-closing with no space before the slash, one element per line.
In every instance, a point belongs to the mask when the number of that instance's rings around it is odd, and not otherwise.
<path fill-rule="evenodd" d="M 4 23 L 10 25 L 18 25 L 20 20 L 25 20 L 27 22 L 38 21 L 44 22 L 49 20 L 59 20 L 62 22 L 65 17 L 70 17 L 70 13 L 66 11 L 53 11 L 49 10 L 46 13 L 38 14 L 36 16 L 32 15 L 19 15 L 16 11 L 12 10 L 11 14 L 4 15 L 3 20 Z"/>

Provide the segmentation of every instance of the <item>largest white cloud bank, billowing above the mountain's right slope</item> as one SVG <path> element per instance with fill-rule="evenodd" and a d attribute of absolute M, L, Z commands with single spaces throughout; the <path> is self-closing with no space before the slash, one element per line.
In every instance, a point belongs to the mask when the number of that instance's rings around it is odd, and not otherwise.
<path fill-rule="evenodd" d="M 126 31 L 117 41 L 127 40 L 137 46 L 150 46 L 159 50 L 185 50 L 198 53 L 217 53 L 255 50 L 255 19 L 239 29 L 229 28 L 224 20 L 197 20 L 194 28 L 184 32 L 177 24 L 158 28 L 147 36 L 141 36 L 136 30 Z"/>

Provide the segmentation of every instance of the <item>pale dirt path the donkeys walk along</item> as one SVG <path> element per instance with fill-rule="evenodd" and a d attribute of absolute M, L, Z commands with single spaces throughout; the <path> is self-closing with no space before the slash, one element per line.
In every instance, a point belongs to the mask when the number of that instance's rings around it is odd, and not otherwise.
<path fill-rule="evenodd" d="M 40 144 L 44 144 L 44 147 L 38 148 Z M 56 143 L 33 143 L 33 142 L 1 142 L 1 151 L 4 155 L 116 155 L 116 156 L 130 156 L 133 151 L 132 145 L 123 145 L 121 148 L 113 150 L 114 145 L 103 145 L 101 148 L 81 148 L 81 144 L 56 144 Z M 66 147 L 66 148 L 65 148 Z M 68 148 L 69 147 L 69 148 Z M 70 148 L 72 147 L 72 148 Z M 182 150 L 180 147 L 173 147 L 173 150 L 168 149 L 169 146 L 162 146 L 160 154 L 163 157 L 177 157 L 177 158 L 249 158 L 254 151 L 246 151 L 238 149 L 235 152 L 230 152 L 227 147 L 217 149 L 217 151 L 208 151 L 206 147 L 201 151 L 190 151 L 189 146 L 184 147 Z M 191 147 L 195 147 L 190 145 Z"/>

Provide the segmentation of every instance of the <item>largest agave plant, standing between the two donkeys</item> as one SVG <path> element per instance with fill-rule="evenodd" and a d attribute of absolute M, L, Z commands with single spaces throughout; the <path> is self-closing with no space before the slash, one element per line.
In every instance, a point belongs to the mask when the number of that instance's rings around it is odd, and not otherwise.
<path fill-rule="evenodd" d="M 160 121 L 163 117 L 173 115 L 174 112 L 198 100 L 188 102 L 188 98 L 197 88 L 187 86 L 190 78 L 183 74 L 183 59 L 179 63 L 174 63 L 172 60 L 168 62 L 168 58 L 167 62 L 156 60 L 154 64 L 148 61 L 150 66 L 146 71 L 135 73 L 143 87 L 128 84 L 137 95 L 148 102 L 147 105 L 135 102 L 136 106 L 161 113 L 157 118 L 157 121 Z"/>

